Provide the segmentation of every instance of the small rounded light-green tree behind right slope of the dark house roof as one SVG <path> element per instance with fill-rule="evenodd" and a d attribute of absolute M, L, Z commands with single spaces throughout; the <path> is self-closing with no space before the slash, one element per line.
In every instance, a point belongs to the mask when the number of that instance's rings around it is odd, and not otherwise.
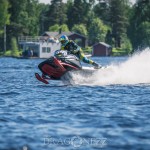
<path fill-rule="evenodd" d="M 72 28 L 72 31 L 79 33 L 81 35 L 87 36 L 87 29 L 85 25 L 79 24 L 79 25 L 74 25 Z"/>

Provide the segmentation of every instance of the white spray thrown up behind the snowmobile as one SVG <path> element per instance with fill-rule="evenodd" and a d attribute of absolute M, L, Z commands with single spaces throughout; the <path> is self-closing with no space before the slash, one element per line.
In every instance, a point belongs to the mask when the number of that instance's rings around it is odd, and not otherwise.
<path fill-rule="evenodd" d="M 150 83 L 150 49 L 129 57 L 120 64 L 111 64 L 89 76 L 72 74 L 73 84 L 78 85 L 114 85 L 114 84 L 149 84 Z"/>

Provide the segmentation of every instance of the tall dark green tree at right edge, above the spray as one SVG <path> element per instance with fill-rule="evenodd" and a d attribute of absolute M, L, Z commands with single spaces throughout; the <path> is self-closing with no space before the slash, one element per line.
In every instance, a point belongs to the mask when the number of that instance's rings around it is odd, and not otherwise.
<path fill-rule="evenodd" d="M 149 22 L 150 22 L 149 0 L 138 0 L 133 6 L 130 17 L 128 35 L 131 39 L 134 50 L 150 46 Z"/>

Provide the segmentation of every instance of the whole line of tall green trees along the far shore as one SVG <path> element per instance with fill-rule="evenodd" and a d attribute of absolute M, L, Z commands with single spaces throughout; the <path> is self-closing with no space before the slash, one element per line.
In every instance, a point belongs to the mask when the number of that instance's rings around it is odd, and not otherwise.
<path fill-rule="evenodd" d="M 114 48 L 138 50 L 150 46 L 150 1 L 137 0 L 0 0 L 0 51 L 19 36 L 44 31 L 73 31 L 87 37 L 89 46 L 106 42 Z"/>

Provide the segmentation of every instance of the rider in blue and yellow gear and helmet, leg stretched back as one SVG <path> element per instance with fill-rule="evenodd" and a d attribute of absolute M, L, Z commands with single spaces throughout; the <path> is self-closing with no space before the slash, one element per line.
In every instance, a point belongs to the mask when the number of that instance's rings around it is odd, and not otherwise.
<path fill-rule="evenodd" d="M 67 50 L 71 54 L 76 55 L 84 63 L 92 64 L 95 69 L 101 68 L 101 66 L 99 64 L 88 59 L 82 52 L 81 47 L 78 46 L 74 41 L 69 40 L 66 35 L 60 36 L 59 41 L 61 43 L 61 50 Z"/>

